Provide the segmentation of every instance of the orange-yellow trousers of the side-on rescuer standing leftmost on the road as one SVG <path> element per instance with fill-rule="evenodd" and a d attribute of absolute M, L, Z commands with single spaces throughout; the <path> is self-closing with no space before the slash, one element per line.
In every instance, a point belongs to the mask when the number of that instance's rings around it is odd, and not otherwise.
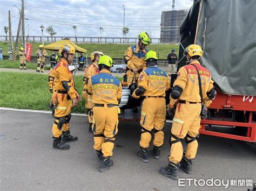
<path fill-rule="evenodd" d="M 60 137 L 62 131 L 69 130 L 69 121 L 71 118 L 72 101 L 68 100 L 68 94 L 57 93 L 57 108 L 55 109 L 55 121 L 52 125 L 53 137 Z"/>

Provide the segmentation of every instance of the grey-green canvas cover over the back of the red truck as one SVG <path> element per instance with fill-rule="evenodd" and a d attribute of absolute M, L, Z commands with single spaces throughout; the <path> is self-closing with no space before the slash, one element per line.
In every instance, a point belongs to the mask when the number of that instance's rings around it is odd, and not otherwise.
<path fill-rule="evenodd" d="M 201 62 L 222 93 L 256 96 L 255 0 L 194 0 L 180 34 L 178 69 L 186 64 L 184 48 L 196 37 L 204 51 Z"/>

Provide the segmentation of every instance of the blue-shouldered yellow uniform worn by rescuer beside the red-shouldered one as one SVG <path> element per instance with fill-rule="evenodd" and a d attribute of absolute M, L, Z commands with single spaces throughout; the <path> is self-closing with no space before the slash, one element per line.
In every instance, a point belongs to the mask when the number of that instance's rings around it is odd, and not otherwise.
<path fill-rule="evenodd" d="M 142 135 L 140 147 L 148 148 L 151 141 L 151 131 L 154 130 L 154 146 L 161 146 L 164 143 L 164 128 L 166 116 L 165 91 L 170 89 L 169 76 L 157 66 L 149 66 L 139 76 L 138 88 L 145 89 L 141 96 L 145 96 L 142 104 L 140 126 Z M 133 92 L 134 98 L 136 90 Z"/>

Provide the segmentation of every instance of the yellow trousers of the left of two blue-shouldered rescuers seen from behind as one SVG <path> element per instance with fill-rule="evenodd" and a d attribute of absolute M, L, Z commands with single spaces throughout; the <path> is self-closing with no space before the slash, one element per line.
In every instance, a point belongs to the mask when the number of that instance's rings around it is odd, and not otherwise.
<path fill-rule="evenodd" d="M 95 150 L 102 150 L 104 157 L 113 155 L 114 137 L 118 132 L 118 107 L 93 107 Z"/>

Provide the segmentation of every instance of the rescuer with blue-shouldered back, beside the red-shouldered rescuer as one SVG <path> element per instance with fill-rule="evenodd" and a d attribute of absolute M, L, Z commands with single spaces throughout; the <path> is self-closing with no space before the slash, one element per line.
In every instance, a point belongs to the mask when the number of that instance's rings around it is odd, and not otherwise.
<path fill-rule="evenodd" d="M 144 96 L 140 126 L 140 151 L 138 157 L 143 162 L 149 162 L 149 145 L 151 132 L 154 130 L 153 157 L 159 159 L 160 148 L 164 143 L 164 122 L 166 115 L 165 91 L 170 89 L 169 76 L 157 66 L 158 53 L 149 51 L 145 55 L 147 69 L 139 76 L 138 88 L 133 92 L 134 98 Z M 152 107 L 152 105 L 154 105 Z"/>

